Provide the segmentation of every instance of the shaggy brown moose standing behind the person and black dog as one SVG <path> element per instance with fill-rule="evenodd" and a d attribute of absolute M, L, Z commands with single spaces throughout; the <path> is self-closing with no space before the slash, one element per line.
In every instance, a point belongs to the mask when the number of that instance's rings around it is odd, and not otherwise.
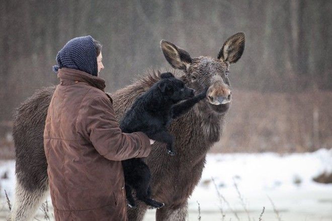
<path fill-rule="evenodd" d="M 201 178 L 206 154 L 221 136 L 231 102 L 229 66 L 241 57 L 244 42 L 241 32 L 231 36 L 216 58 L 192 58 L 184 49 L 165 40 L 160 42 L 167 61 L 181 70 L 175 75 L 197 93 L 208 90 L 206 99 L 172 121 L 169 127 L 177 154 L 170 157 L 164 151 L 165 144 L 155 142 L 150 155 L 144 159 L 151 172 L 151 197 L 165 204 L 156 210 L 156 220 L 185 220 L 187 217 L 188 197 Z M 150 70 L 132 85 L 110 94 L 117 120 L 120 121 L 137 97 L 159 80 L 158 71 Z M 15 113 L 16 200 L 8 220 L 31 220 L 48 194 L 43 131 L 54 90 L 55 86 L 38 90 Z M 142 220 L 146 209 L 143 202 L 138 202 L 135 208 L 128 207 L 129 220 Z"/>

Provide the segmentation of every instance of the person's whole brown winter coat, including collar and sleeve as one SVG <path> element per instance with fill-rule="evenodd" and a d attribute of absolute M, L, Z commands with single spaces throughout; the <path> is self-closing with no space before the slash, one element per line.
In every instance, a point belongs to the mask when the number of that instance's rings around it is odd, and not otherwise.
<path fill-rule="evenodd" d="M 122 133 L 105 81 L 60 68 L 44 129 L 56 220 L 127 220 L 121 160 L 146 157 L 149 138 Z"/>

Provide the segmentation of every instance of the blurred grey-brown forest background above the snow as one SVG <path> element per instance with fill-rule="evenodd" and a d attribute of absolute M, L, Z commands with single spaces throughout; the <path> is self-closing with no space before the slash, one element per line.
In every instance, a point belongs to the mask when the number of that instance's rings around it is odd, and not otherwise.
<path fill-rule="evenodd" d="M 52 65 L 71 38 L 102 42 L 106 91 L 149 67 L 170 67 L 165 39 L 192 57 L 216 57 L 246 36 L 231 66 L 233 102 L 214 152 L 279 153 L 332 146 L 332 1 L 1 1 L 0 151 L 13 156 L 12 115 L 36 89 L 56 85 Z"/>

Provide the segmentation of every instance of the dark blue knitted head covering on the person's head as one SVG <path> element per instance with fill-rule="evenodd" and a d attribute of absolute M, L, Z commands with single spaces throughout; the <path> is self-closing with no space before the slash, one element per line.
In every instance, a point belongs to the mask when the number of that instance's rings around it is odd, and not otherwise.
<path fill-rule="evenodd" d="M 90 35 L 68 41 L 56 55 L 56 61 L 58 65 L 53 66 L 56 73 L 59 68 L 67 67 L 98 75 L 97 51 Z"/>

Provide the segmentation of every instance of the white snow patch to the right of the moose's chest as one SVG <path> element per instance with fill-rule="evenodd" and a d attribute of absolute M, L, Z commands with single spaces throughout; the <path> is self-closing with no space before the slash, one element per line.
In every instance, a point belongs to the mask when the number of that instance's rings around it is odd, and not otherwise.
<path fill-rule="evenodd" d="M 312 180 L 324 171 L 332 172 L 332 150 L 287 155 L 208 154 L 189 208 L 197 210 L 198 201 L 202 211 L 219 210 L 220 206 L 230 211 L 225 202 L 220 202 L 211 181 L 213 178 L 233 210 L 244 210 L 234 186 L 236 183 L 247 210 L 256 211 L 257 216 L 263 206 L 266 211 L 273 210 L 270 197 L 281 211 L 332 217 L 332 184 Z"/>

